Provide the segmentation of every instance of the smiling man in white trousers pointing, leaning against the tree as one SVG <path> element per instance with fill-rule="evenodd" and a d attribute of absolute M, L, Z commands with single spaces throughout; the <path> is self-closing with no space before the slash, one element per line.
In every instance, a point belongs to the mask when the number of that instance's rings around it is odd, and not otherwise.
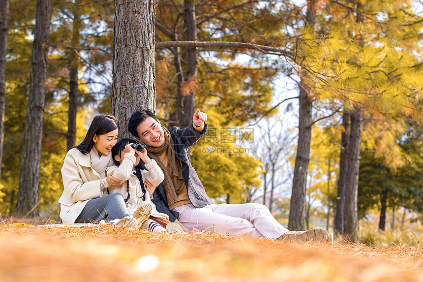
<path fill-rule="evenodd" d="M 207 132 L 206 121 L 207 114 L 199 109 L 184 129 L 168 130 L 149 110 L 137 111 L 129 119 L 129 132 L 146 144 L 149 155 L 165 174 L 153 193 L 152 201 L 159 212 L 169 215 L 171 221 L 178 223 L 179 219 L 185 232 L 215 226 L 229 235 L 302 242 L 329 239 L 325 229 L 289 231 L 261 204 L 213 204 L 189 158 L 189 148 Z"/>

